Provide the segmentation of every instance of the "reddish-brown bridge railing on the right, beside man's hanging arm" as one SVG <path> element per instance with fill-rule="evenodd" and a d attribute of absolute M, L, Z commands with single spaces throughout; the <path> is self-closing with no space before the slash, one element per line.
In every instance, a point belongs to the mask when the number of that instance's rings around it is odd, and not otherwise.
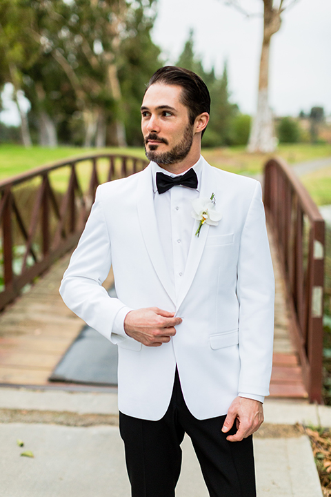
<path fill-rule="evenodd" d="M 310 401 L 321 402 L 325 224 L 283 160 L 265 164 L 264 181 L 265 211 L 277 238 L 303 380 Z"/>

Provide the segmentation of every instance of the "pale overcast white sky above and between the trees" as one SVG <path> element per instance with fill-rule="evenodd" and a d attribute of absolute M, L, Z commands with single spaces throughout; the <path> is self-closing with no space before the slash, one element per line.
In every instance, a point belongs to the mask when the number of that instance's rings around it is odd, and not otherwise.
<path fill-rule="evenodd" d="M 163 50 L 167 64 L 175 64 L 194 30 L 194 47 L 205 69 L 218 75 L 228 62 L 231 101 L 242 113 L 254 114 L 257 102 L 259 59 L 263 33 L 262 0 L 241 0 L 250 13 L 245 17 L 225 0 L 158 0 L 154 43 Z M 312 106 L 331 114 L 331 0 L 297 0 L 283 12 L 281 30 L 271 41 L 270 105 L 277 116 L 296 116 Z M 3 98 L 0 119 L 19 124 L 10 102 L 10 88 Z"/>

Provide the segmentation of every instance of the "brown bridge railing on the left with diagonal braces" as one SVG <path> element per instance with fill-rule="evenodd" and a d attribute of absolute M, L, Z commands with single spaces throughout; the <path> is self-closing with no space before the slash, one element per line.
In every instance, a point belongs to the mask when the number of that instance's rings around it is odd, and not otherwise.
<path fill-rule="evenodd" d="M 72 249 L 97 186 L 148 162 L 105 153 L 75 157 L 0 182 L 0 311 Z"/>

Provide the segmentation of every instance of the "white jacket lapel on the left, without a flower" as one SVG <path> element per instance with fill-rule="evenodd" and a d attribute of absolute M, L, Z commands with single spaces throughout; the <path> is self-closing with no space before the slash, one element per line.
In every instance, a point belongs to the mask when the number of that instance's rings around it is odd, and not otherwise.
<path fill-rule="evenodd" d="M 165 257 L 163 255 L 163 249 L 159 237 L 159 230 L 157 227 L 150 166 L 140 173 L 137 188 L 138 216 L 148 255 L 150 256 L 154 270 L 156 271 L 163 288 L 168 293 L 172 302 L 176 304 L 174 285 L 172 284 L 167 271 Z"/>

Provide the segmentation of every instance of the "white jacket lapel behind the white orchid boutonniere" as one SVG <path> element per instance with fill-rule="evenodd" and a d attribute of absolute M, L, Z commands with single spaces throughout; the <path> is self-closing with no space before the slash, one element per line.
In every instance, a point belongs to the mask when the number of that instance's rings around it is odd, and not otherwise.
<path fill-rule="evenodd" d="M 214 193 L 217 199 L 216 190 L 217 190 L 217 178 L 215 177 L 214 170 L 212 166 L 210 166 L 210 164 L 208 164 L 208 162 L 205 162 L 205 160 L 203 159 L 203 169 L 201 174 L 201 190 L 199 197 L 209 199 L 212 193 Z M 177 312 L 190 289 L 195 273 L 197 273 L 203 249 L 205 248 L 205 241 L 207 240 L 209 224 L 203 224 L 203 226 L 201 227 L 199 237 L 195 236 L 198 226 L 199 226 L 199 221 L 196 221 L 194 223 L 192 231 L 190 250 L 188 252 L 188 260 L 185 266 L 183 282 L 181 284 L 181 289 L 179 291 L 179 298 L 177 301 Z"/>

